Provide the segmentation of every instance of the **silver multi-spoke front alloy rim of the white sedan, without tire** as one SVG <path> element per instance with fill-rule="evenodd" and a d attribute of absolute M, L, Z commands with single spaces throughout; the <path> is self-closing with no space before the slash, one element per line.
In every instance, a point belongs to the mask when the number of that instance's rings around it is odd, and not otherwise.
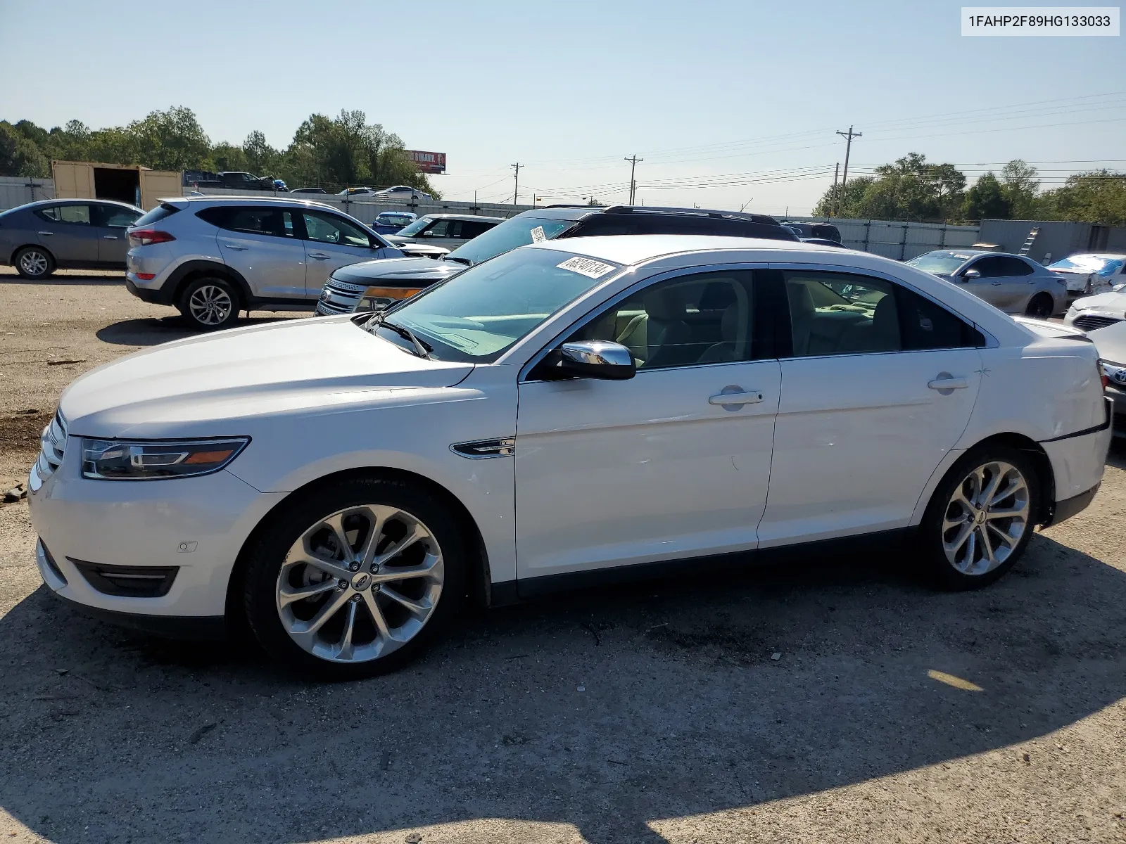
<path fill-rule="evenodd" d="M 329 662 L 366 662 L 413 639 L 445 581 L 441 548 L 410 513 L 363 504 L 319 519 L 289 548 L 277 611 L 289 638 Z"/>

